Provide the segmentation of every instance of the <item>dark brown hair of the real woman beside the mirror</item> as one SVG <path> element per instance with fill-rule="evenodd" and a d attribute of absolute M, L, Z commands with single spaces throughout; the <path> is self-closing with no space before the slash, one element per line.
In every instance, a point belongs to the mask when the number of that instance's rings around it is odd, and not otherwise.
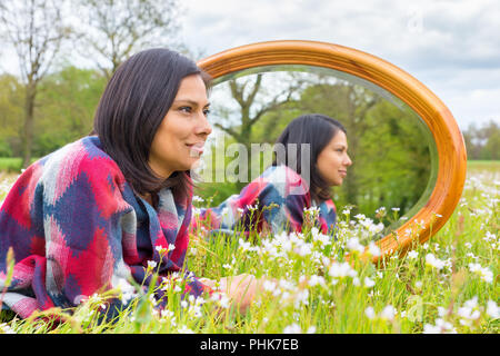
<path fill-rule="evenodd" d="M 149 49 L 126 60 L 104 89 L 92 134 L 137 194 L 154 196 L 164 187 L 186 194 L 191 185 L 189 171 L 162 179 L 148 164 L 154 135 L 190 75 L 200 75 L 208 90 L 210 77 L 194 61 L 169 49 Z"/>

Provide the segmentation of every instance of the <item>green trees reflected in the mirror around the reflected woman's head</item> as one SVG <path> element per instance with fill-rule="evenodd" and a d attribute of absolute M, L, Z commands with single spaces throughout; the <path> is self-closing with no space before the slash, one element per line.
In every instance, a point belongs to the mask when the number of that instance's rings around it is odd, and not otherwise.
<path fill-rule="evenodd" d="M 333 188 L 338 208 L 351 205 L 353 214 L 374 217 L 382 206 L 398 207 L 401 214 L 414 206 L 429 182 L 431 160 L 423 122 L 408 106 L 369 85 L 331 75 L 287 72 L 279 80 L 277 76 L 247 73 L 216 86 L 214 91 L 226 92 L 226 100 L 214 100 L 223 106 L 214 110 L 213 125 L 251 152 L 252 142 L 273 144 L 299 115 L 328 115 L 346 127 L 354 162 L 344 184 Z M 226 184 L 220 189 L 227 197 L 244 185 Z"/>

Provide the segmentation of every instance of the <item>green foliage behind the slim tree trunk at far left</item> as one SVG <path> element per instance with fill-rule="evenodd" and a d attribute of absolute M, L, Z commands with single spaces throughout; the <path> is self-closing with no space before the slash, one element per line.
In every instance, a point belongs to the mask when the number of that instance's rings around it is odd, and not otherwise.
<path fill-rule="evenodd" d="M 67 66 L 40 82 L 32 154 L 42 157 L 88 135 L 106 86 L 96 70 Z M 23 88 L 12 76 L 0 77 L 0 157 L 22 156 Z"/>

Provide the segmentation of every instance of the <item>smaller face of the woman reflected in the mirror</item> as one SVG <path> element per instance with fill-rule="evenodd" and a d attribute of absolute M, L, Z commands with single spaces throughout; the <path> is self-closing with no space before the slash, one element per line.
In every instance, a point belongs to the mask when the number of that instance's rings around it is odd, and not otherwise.
<path fill-rule="evenodd" d="M 346 134 L 342 130 L 338 130 L 330 142 L 318 155 L 316 166 L 329 186 L 342 185 L 343 178 L 347 176 L 347 168 L 352 165 L 347 150 Z"/>

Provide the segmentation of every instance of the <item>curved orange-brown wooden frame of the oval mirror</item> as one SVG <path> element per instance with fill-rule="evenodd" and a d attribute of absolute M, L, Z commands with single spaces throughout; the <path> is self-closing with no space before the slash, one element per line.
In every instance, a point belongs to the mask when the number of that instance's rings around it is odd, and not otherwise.
<path fill-rule="evenodd" d="M 212 78 L 243 69 L 272 65 L 326 67 L 366 79 L 398 97 L 413 109 L 430 129 L 437 146 L 439 168 L 436 186 L 424 206 L 396 230 L 377 241 L 382 254 L 404 254 L 412 243 L 427 241 L 450 218 L 466 181 L 467 151 L 462 134 L 444 103 L 416 78 L 372 55 L 317 41 L 269 41 L 226 50 L 198 61 Z"/>

